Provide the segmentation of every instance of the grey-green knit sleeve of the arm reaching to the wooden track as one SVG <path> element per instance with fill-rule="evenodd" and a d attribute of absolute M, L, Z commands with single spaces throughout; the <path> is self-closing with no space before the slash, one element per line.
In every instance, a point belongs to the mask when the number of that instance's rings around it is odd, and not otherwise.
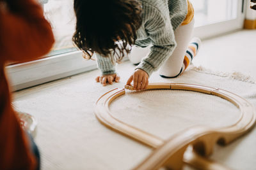
<path fill-rule="evenodd" d="M 176 42 L 167 5 L 161 11 L 154 6 L 145 10 L 147 10 L 144 12 L 147 13 L 144 16 L 147 17 L 145 30 L 153 46 L 150 48 L 149 55 L 141 60 L 136 69 L 142 69 L 150 76 L 172 55 Z"/>

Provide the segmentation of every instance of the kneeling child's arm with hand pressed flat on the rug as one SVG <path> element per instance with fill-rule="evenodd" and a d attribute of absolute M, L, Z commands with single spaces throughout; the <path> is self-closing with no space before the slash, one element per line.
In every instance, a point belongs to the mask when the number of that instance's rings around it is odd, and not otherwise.
<path fill-rule="evenodd" d="M 97 82 L 102 83 L 105 86 L 107 83 L 112 84 L 113 81 L 118 82 L 120 80 L 120 76 L 116 74 L 115 64 L 111 61 L 109 57 L 102 57 L 98 53 L 97 56 L 97 64 L 102 73 L 101 76 L 97 76 L 95 80 Z"/>

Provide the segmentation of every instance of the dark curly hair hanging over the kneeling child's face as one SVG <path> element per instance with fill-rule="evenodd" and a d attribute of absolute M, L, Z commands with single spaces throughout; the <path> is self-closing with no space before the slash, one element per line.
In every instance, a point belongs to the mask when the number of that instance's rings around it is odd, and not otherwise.
<path fill-rule="evenodd" d="M 89 58 L 94 52 L 104 57 L 113 57 L 114 52 L 118 61 L 130 52 L 127 46 L 135 43 L 141 25 L 138 0 L 74 0 L 74 11 L 77 22 L 72 40 Z M 116 41 L 122 42 L 117 45 Z"/>

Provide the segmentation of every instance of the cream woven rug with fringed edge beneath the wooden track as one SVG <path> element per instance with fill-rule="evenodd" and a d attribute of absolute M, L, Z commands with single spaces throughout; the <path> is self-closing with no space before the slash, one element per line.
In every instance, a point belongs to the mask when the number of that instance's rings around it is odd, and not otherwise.
<path fill-rule="evenodd" d="M 124 87 L 133 66 L 125 62 L 121 67 L 121 83 L 107 87 L 92 82 L 99 71 L 91 71 L 15 93 L 17 108 L 38 119 L 36 143 L 42 153 L 42 169 L 132 169 L 152 151 L 107 129 L 93 113 L 93 104 L 102 94 Z M 154 73 L 150 82 L 218 87 L 256 106 L 255 81 L 237 73 L 212 73 L 194 67 L 174 79 Z M 111 111 L 122 121 L 164 139 L 193 125 L 223 127 L 239 117 L 239 110 L 224 99 L 180 90 L 128 92 L 114 101 Z M 253 129 L 224 148 L 217 146 L 212 159 L 232 169 L 255 169 L 255 143 Z"/>

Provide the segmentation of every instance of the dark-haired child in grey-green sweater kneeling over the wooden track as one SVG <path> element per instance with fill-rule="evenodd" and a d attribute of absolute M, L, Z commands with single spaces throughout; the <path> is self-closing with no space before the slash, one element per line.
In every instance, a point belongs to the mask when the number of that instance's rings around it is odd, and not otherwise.
<path fill-rule="evenodd" d="M 164 78 L 181 74 L 200 46 L 198 38 L 189 44 L 194 11 L 187 0 L 75 0 L 74 10 L 77 24 L 73 41 L 86 56 L 96 53 L 102 71 L 96 81 L 103 85 L 120 80 L 115 62 L 130 52 L 127 46 L 152 45 L 147 56 L 130 57 L 140 62 L 134 63 L 138 66 L 127 80 L 127 85 L 133 81 L 136 90 L 145 89 L 148 77 L 159 68 Z"/>

